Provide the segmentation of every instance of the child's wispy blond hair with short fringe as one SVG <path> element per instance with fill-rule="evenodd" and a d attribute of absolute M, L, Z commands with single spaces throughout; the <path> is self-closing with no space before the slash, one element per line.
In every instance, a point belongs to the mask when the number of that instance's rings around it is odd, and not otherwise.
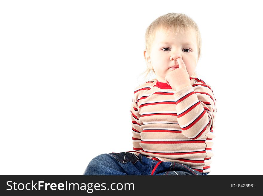
<path fill-rule="evenodd" d="M 165 14 L 163 16 L 158 17 L 149 25 L 145 33 L 146 50 L 148 51 L 148 53 L 151 51 L 151 45 L 155 39 L 155 33 L 158 30 L 164 30 L 164 32 L 166 32 L 167 35 L 169 33 L 179 33 L 180 35 L 184 35 L 189 29 L 193 29 L 196 32 L 198 61 L 201 57 L 201 34 L 199 28 L 195 21 L 192 20 L 192 18 L 181 13 Z M 155 74 L 155 71 L 147 67 L 146 71 L 144 71 L 140 75 L 146 74 L 146 79 L 147 76 L 151 73 Z M 197 77 L 197 73 L 194 72 L 192 77 Z"/>

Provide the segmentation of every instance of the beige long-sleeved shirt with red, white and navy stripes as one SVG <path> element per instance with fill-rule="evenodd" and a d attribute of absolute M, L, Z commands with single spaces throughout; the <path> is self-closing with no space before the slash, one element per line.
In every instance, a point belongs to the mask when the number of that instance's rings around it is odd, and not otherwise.
<path fill-rule="evenodd" d="M 135 89 L 129 152 L 210 172 L 216 99 L 201 79 L 190 77 L 190 82 L 178 92 L 157 79 Z"/>

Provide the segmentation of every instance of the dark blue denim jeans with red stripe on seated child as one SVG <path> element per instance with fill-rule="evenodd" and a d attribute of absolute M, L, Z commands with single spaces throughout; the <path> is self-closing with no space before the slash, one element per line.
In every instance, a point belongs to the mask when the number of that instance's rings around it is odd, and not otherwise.
<path fill-rule="evenodd" d="M 209 173 L 209 172 L 208 172 Z M 91 160 L 83 175 L 207 175 L 190 166 L 149 159 L 130 152 L 99 155 Z"/>

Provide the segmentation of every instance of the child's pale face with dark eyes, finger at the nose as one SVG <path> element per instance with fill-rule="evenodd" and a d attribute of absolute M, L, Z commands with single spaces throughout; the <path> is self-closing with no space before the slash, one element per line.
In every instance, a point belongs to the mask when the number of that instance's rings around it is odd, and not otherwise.
<path fill-rule="evenodd" d="M 189 77 L 192 76 L 198 58 L 195 31 L 189 29 L 183 36 L 172 33 L 166 36 L 162 30 L 157 31 L 150 54 L 144 51 L 144 57 L 147 66 L 155 71 L 159 82 L 165 82 L 165 76 L 174 70 L 171 67 L 179 67 L 176 61 L 178 57 L 183 59 Z"/>

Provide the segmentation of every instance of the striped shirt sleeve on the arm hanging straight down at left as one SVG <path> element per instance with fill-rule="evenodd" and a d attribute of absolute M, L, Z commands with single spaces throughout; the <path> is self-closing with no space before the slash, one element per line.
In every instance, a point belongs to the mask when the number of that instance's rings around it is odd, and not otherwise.
<path fill-rule="evenodd" d="M 138 111 L 137 100 L 134 100 L 134 96 L 132 98 L 132 107 L 131 107 L 131 117 L 132 117 L 132 144 L 133 150 L 142 150 L 140 146 L 141 136 L 140 132 L 142 129 L 140 128 L 143 125 L 142 122 L 139 121 L 140 113 Z"/>

